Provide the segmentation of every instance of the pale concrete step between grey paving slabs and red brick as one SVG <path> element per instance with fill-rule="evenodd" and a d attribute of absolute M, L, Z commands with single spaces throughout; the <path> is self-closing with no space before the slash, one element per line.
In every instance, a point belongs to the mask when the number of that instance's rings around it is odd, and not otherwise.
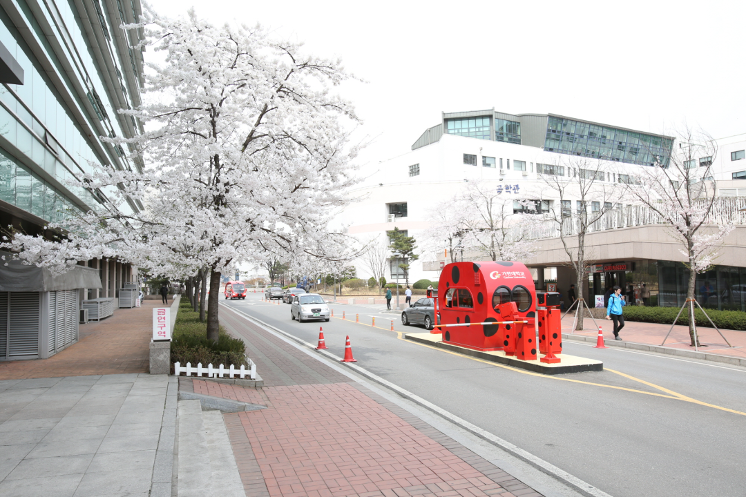
<path fill-rule="evenodd" d="M 178 402 L 178 497 L 245 497 L 220 411 Z"/>

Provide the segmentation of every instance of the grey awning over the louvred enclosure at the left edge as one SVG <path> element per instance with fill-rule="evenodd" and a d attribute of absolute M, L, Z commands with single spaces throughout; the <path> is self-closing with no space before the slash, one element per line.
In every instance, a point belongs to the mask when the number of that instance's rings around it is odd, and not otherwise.
<path fill-rule="evenodd" d="M 78 288 L 103 288 L 98 269 L 74 266 L 60 276 L 37 266 L 27 266 L 20 261 L 10 260 L 9 253 L 0 260 L 0 291 L 58 291 Z"/>

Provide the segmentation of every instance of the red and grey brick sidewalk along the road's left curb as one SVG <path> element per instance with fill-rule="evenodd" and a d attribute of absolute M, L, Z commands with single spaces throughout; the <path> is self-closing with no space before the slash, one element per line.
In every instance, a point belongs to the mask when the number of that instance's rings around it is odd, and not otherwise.
<path fill-rule="evenodd" d="M 247 496 L 540 496 L 413 414 L 225 312 L 265 387 L 180 379 L 180 390 L 266 405 L 224 414 Z"/>

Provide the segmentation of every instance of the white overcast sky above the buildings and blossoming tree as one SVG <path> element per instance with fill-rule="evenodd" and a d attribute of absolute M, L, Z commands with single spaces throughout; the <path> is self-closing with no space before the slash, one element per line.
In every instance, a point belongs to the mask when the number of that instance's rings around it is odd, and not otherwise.
<path fill-rule="evenodd" d="M 194 6 L 342 57 L 366 83 L 342 95 L 374 138 L 362 162 L 401 155 L 441 111 L 556 113 L 653 133 L 686 121 L 746 133 L 746 1 L 235 1 Z M 148 56 L 148 52 L 145 53 Z M 746 138 L 746 135 L 744 136 Z"/>

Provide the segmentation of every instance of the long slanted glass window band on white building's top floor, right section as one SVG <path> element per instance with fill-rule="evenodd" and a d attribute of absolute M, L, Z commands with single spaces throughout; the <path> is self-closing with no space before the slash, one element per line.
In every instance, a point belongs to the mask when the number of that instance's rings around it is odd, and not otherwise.
<path fill-rule="evenodd" d="M 549 116 L 545 151 L 668 167 L 673 140 Z"/>

